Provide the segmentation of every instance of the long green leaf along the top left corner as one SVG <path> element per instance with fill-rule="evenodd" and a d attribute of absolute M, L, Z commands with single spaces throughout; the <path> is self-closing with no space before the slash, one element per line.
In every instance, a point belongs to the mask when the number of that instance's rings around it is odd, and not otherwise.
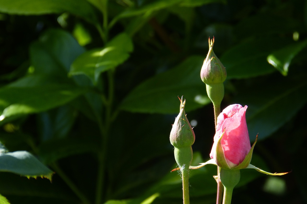
<path fill-rule="evenodd" d="M 95 9 L 85 0 L 2 0 L 0 12 L 17 15 L 44 15 L 69 12 L 83 17 L 90 23 L 97 23 Z"/>

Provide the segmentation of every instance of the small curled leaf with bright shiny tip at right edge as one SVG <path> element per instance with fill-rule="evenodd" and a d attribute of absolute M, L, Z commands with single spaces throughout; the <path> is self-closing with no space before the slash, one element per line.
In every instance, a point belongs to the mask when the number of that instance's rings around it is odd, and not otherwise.
<path fill-rule="evenodd" d="M 274 51 L 266 59 L 282 75 L 287 76 L 291 60 L 307 45 L 307 40 Z"/>

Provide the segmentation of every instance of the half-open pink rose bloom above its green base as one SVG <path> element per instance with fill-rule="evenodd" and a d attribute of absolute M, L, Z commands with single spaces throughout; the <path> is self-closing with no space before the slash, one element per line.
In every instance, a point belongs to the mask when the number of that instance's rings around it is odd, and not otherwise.
<path fill-rule="evenodd" d="M 245 119 L 246 109 L 247 106 L 242 107 L 240 104 L 233 104 L 225 108 L 217 118 L 216 134 L 214 135 L 210 157 L 216 159 L 216 161 L 222 161 L 217 162 L 218 165 L 219 163 L 222 164 L 222 166 L 219 165 L 222 168 L 231 169 L 238 166 L 251 149 Z M 222 135 L 220 144 L 223 154 L 216 155 L 216 146 Z M 228 166 L 224 165 L 225 162 Z"/>

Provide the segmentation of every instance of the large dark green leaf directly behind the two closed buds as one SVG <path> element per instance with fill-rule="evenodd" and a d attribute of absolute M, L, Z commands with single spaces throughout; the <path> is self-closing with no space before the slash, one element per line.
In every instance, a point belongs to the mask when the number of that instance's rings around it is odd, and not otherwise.
<path fill-rule="evenodd" d="M 158 74 L 136 87 L 123 100 L 121 109 L 142 113 L 178 112 L 178 96 L 186 99 L 186 111 L 210 103 L 200 79 L 204 57 L 191 56 L 176 68 Z"/>

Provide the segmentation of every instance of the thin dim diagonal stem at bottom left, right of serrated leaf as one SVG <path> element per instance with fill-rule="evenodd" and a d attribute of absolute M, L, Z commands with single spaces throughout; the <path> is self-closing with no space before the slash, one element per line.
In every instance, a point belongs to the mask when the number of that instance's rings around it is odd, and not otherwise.
<path fill-rule="evenodd" d="M 50 165 L 53 170 L 64 180 L 68 187 L 78 196 L 78 198 L 84 204 L 90 204 L 91 202 L 86 198 L 86 196 L 76 187 L 76 185 L 66 176 L 62 169 L 57 165 L 57 163 L 52 163 Z"/>

